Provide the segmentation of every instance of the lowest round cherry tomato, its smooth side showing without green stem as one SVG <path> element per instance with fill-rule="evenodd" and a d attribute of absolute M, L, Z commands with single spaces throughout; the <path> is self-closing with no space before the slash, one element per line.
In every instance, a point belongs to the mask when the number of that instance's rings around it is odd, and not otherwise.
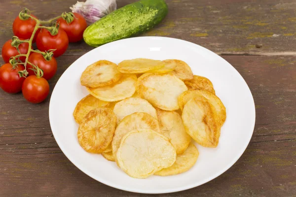
<path fill-rule="evenodd" d="M 48 96 L 49 84 L 43 77 L 38 78 L 36 75 L 31 75 L 25 79 L 22 92 L 29 102 L 39 103 Z"/>

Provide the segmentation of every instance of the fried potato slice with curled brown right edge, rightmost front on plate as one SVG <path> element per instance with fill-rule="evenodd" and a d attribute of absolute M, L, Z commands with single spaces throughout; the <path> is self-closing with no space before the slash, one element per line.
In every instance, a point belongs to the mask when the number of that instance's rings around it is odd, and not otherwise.
<path fill-rule="evenodd" d="M 217 147 L 220 126 L 216 122 L 216 109 L 208 99 L 193 98 L 184 106 L 182 120 L 186 132 L 204 147 Z"/>

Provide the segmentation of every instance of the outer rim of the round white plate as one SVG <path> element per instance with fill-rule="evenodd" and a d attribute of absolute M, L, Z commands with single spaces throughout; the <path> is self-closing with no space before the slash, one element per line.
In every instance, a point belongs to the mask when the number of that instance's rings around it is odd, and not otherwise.
<path fill-rule="evenodd" d="M 61 145 L 61 141 L 55 136 L 55 132 L 53 131 L 53 127 L 52 127 L 52 124 L 51 124 L 51 114 L 52 114 L 52 110 L 51 110 L 51 106 L 52 106 L 52 102 L 51 102 L 51 97 L 50 97 L 50 100 L 49 100 L 49 107 L 48 107 L 48 116 L 49 116 L 49 124 L 50 124 L 50 128 L 51 128 L 51 131 L 52 131 L 52 134 L 55 138 L 55 141 L 57 142 L 59 148 L 62 150 L 63 154 L 69 159 L 69 161 L 74 164 L 79 170 L 81 170 L 83 173 L 85 173 L 86 175 L 88 175 L 89 177 L 93 178 L 94 180 L 96 181 L 99 181 L 105 185 L 108 185 L 112 188 L 115 188 L 115 189 L 119 189 L 119 190 L 123 190 L 123 191 L 127 191 L 127 192 L 133 192 L 133 193 L 141 193 L 141 194 L 167 194 L 167 193 L 175 193 L 175 192 L 180 192 L 180 191 L 185 191 L 185 190 L 188 190 L 188 189 L 192 189 L 192 188 L 195 188 L 195 187 L 198 187 L 200 185 L 203 185 L 205 183 L 208 183 L 209 181 L 217 178 L 218 176 L 222 175 L 225 171 L 227 171 L 233 164 L 235 164 L 239 158 L 244 154 L 244 152 L 246 151 L 250 141 L 251 141 L 251 138 L 253 136 L 253 133 L 254 133 L 254 129 L 255 129 L 255 123 L 256 123 L 256 108 L 255 108 L 255 101 L 254 101 L 254 97 L 252 95 L 252 92 L 250 90 L 250 87 L 248 86 L 247 82 L 245 81 L 245 79 L 243 78 L 243 76 L 235 69 L 235 67 L 233 67 L 230 63 L 228 63 L 225 59 L 223 59 L 221 56 L 219 56 L 218 54 L 216 54 L 215 52 L 203 47 L 203 46 L 200 46 L 196 43 L 193 43 L 193 42 L 190 42 L 190 41 L 187 41 L 187 40 L 183 40 L 183 39 L 179 39 L 179 38 L 172 38 L 172 37 L 165 37 L 165 36 L 140 36 L 140 37 L 130 37 L 130 38 L 125 38 L 125 39 L 120 39 L 120 40 L 115 40 L 113 42 L 110 42 L 110 43 L 114 43 L 114 42 L 121 42 L 122 40 L 130 40 L 130 39 L 151 39 L 151 38 L 154 38 L 154 39 L 174 39 L 174 40 L 178 40 L 178 41 L 182 41 L 182 42 L 186 42 L 186 43 L 189 43 L 189 44 L 194 44 L 195 46 L 197 47 L 201 47 L 203 50 L 206 50 L 207 52 L 213 54 L 213 55 L 216 55 L 219 57 L 219 59 L 221 61 L 224 61 L 228 64 L 228 66 L 230 66 L 232 69 L 234 69 L 235 72 L 237 72 L 237 74 L 240 76 L 240 78 L 242 79 L 242 81 L 245 83 L 245 85 L 247 86 L 248 88 L 248 91 L 252 97 L 252 105 L 253 105 L 253 110 L 254 110 L 254 119 L 252 120 L 252 132 L 250 132 L 250 136 L 249 136 L 249 139 L 246 140 L 245 142 L 245 145 L 244 145 L 244 148 L 242 149 L 243 151 L 241 151 L 241 153 L 232 159 L 231 162 L 228 163 L 228 165 L 226 167 L 224 167 L 219 173 L 216 173 L 210 177 L 208 177 L 207 179 L 205 179 L 204 181 L 202 181 L 201 183 L 193 183 L 193 184 L 190 184 L 190 185 L 186 185 L 186 186 L 181 186 L 181 187 L 176 187 L 174 189 L 170 189 L 170 190 L 163 190 L 163 191 L 151 191 L 151 192 L 148 192 L 148 191 L 144 191 L 144 190 L 141 190 L 141 189 L 134 189 L 134 188 L 125 188 L 125 187 L 121 187 L 120 185 L 117 185 L 117 184 L 112 184 L 108 181 L 105 181 L 104 179 L 101 179 L 101 178 L 94 178 L 94 176 L 92 175 L 91 172 L 89 172 L 87 169 L 85 169 L 83 166 L 81 166 L 80 164 L 75 164 L 74 161 L 72 161 L 71 159 L 71 156 L 67 155 L 64 151 L 64 147 L 63 145 Z M 107 43 L 107 44 L 104 44 L 104 45 L 101 45 L 99 47 L 102 47 L 102 46 L 105 46 L 105 45 L 108 45 L 110 43 Z M 60 79 L 62 78 L 62 76 L 65 74 L 65 72 L 72 66 L 74 65 L 75 62 L 77 62 L 80 58 L 83 58 L 84 55 L 88 54 L 89 52 L 93 51 L 93 50 L 96 50 L 97 48 L 99 47 L 96 47 L 96 48 L 93 48 L 92 50 L 88 51 L 87 53 L 83 54 L 82 56 L 80 56 L 78 59 L 76 59 L 64 72 L 63 74 L 60 76 L 59 80 L 56 82 L 55 84 L 55 87 L 52 91 L 52 94 L 51 96 L 55 93 L 55 90 L 56 90 L 56 85 L 59 83 Z M 252 111 L 253 111 L 252 110 Z"/>

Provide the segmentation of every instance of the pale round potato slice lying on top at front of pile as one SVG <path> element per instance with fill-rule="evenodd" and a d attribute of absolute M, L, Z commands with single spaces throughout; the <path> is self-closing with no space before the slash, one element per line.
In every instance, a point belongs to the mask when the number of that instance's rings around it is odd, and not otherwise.
<path fill-rule="evenodd" d="M 122 137 L 116 158 L 118 166 L 129 176 L 147 178 L 173 165 L 176 150 L 167 137 L 153 130 L 139 129 Z"/>

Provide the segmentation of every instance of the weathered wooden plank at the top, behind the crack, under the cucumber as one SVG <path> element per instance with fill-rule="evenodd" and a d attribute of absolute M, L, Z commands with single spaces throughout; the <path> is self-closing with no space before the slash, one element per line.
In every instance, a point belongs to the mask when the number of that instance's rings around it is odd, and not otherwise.
<path fill-rule="evenodd" d="M 117 0 L 118 7 L 136 0 Z M 21 7 L 49 19 L 70 11 L 76 0 L 2 0 L 0 45 L 12 36 L 11 24 Z M 296 55 L 294 0 L 167 0 L 164 21 L 145 35 L 168 36 L 200 44 L 219 54 Z M 82 55 L 91 47 L 70 44 L 68 55 Z M 291 53 L 289 53 L 291 52 Z"/>

